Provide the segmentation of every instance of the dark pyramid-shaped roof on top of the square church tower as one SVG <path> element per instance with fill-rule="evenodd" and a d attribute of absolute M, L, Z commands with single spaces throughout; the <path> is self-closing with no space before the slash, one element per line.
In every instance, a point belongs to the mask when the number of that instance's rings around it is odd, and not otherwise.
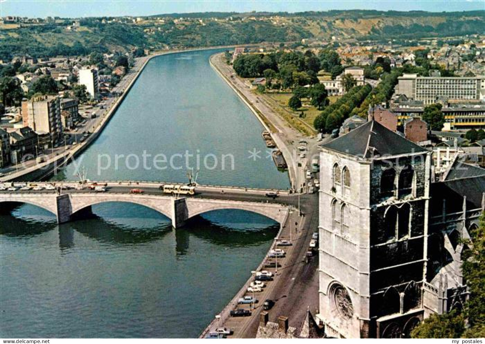
<path fill-rule="evenodd" d="M 366 158 L 427 152 L 425 148 L 405 139 L 376 121 L 369 121 L 322 145 L 322 147 Z"/>

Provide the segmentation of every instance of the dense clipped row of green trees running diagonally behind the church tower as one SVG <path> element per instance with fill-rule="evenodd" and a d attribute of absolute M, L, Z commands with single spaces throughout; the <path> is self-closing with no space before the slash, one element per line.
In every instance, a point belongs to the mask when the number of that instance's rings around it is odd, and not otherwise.
<path fill-rule="evenodd" d="M 315 118 L 313 125 L 321 132 L 331 132 L 337 129 L 353 113 L 353 110 L 366 99 L 371 90 L 370 85 L 352 88 L 334 104 L 326 107 Z"/>

